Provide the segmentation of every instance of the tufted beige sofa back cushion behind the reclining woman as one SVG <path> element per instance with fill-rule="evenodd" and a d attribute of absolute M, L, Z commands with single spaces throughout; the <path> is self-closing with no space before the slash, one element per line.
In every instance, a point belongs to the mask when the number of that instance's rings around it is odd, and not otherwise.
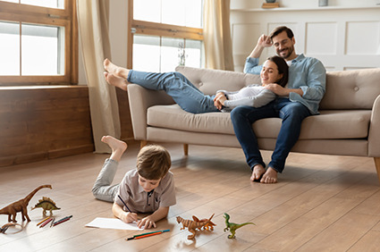
<path fill-rule="evenodd" d="M 260 76 L 239 71 L 221 71 L 177 66 L 175 71 L 181 72 L 200 91 L 206 95 L 215 95 L 220 89 L 237 91 L 250 84 L 260 84 Z"/>

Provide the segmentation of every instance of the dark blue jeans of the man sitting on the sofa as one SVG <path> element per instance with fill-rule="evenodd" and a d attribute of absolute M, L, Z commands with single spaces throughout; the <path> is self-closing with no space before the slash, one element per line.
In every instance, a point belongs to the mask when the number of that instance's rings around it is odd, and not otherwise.
<path fill-rule="evenodd" d="M 258 149 L 258 139 L 252 129 L 253 122 L 269 117 L 283 119 L 274 147 L 272 161 L 268 164 L 275 171 L 283 172 L 286 157 L 300 137 L 301 122 L 310 114 L 305 105 L 291 102 L 288 98 L 281 97 L 259 108 L 251 106 L 235 107 L 231 112 L 233 130 L 241 143 L 250 169 L 253 170 L 253 167 L 257 164 L 266 167 Z"/>

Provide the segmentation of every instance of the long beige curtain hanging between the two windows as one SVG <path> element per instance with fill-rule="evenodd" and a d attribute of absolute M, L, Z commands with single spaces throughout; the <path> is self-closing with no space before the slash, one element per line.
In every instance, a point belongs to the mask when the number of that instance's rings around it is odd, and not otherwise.
<path fill-rule="evenodd" d="M 106 83 L 104 59 L 110 58 L 108 38 L 108 0 L 78 0 L 78 25 L 86 77 L 89 85 L 89 107 L 95 152 L 109 153 L 100 139 L 111 135 L 120 139 L 120 118 L 116 91 Z"/>

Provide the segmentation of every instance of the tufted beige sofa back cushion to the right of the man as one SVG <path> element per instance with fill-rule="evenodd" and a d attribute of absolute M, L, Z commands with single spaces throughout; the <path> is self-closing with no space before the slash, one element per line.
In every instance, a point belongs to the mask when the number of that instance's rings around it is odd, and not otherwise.
<path fill-rule="evenodd" d="M 380 95 L 380 68 L 328 71 L 326 92 L 319 108 L 372 109 Z"/>

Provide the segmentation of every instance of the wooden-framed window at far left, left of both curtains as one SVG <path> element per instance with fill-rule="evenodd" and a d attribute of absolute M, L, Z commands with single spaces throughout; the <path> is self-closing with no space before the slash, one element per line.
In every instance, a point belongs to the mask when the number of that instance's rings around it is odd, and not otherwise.
<path fill-rule="evenodd" d="M 78 80 L 75 0 L 0 0 L 0 85 Z"/>

